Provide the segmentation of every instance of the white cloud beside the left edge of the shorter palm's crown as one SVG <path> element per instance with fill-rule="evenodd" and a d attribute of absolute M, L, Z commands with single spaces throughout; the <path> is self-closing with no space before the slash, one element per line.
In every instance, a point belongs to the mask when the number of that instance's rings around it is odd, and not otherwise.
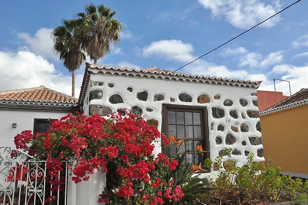
<path fill-rule="evenodd" d="M 59 60 L 59 57 L 57 57 L 53 51 L 52 31 L 53 29 L 41 28 L 36 31 L 34 37 L 29 33 L 18 33 L 17 37 L 22 39 L 26 44 L 23 50 L 29 50 L 46 59 Z"/>

